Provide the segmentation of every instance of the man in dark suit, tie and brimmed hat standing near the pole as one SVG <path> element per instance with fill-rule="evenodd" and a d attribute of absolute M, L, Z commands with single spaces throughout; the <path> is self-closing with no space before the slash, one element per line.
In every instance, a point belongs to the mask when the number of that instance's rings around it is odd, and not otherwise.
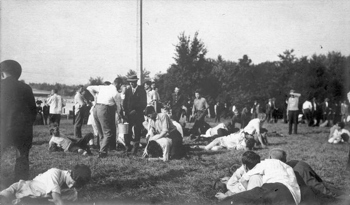
<path fill-rule="evenodd" d="M 123 101 L 123 108 L 126 116 L 126 121 L 129 124 L 128 134 L 125 135 L 125 147 L 127 152 L 137 153 L 139 148 L 142 122 L 144 121 L 144 109 L 147 105 L 147 95 L 144 87 L 137 85 L 137 75 L 132 75 L 127 81 L 130 83 L 130 88 L 125 91 L 125 98 Z M 134 148 L 131 145 L 133 140 L 133 127 L 135 132 Z"/>

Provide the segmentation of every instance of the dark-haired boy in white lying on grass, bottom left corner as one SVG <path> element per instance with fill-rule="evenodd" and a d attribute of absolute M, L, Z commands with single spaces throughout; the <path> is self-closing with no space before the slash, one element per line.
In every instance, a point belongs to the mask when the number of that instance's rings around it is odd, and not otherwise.
<path fill-rule="evenodd" d="M 84 186 L 90 178 L 91 170 L 83 164 L 76 165 L 72 170 L 52 168 L 33 180 L 13 183 L 0 193 L 1 202 L 26 204 L 33 199 L 47 198 L 54 204 L 61 205 L 64 204 L 63 200 L 75 201 L 78 198 L 75 188 Z"/>

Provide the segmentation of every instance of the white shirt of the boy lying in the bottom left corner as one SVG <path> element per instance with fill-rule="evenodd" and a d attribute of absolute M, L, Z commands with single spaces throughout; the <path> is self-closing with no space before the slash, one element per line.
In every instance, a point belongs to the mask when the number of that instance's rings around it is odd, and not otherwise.
<path fill-rule="evenodd" d="M 45 192 L 49 194 L 51 192 L 56 192 L 61 194 L 61 187 L 68 182 L 68 188 L 73 186 L 73 181 L 70 176 L 70 170 L 60 170 L 52 168 L 46 172 L 36 176 L 33 181 L 40 181 L 45 185 Z"/>

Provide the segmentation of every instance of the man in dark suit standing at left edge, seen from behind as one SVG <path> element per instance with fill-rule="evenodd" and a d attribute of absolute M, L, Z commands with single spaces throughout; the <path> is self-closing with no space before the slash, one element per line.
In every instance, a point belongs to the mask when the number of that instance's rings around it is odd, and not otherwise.
<path fill-rule="evenodd" d="M 0 136 L 1 152 L 10 146 L 16 148 L 14 180 L 28 180 L 29 150 L 33 140 L 33 122 L 36 116 L 32 89 L 18 79 L 22 68 L 14 60 L 0 63 Z"/>

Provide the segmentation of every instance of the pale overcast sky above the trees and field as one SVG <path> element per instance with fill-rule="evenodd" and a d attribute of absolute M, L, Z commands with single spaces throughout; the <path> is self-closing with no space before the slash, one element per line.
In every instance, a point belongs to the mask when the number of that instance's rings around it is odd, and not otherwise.
<path fill-rule="evenodd" d="M 136 1 L 1 0 L 0 58 L 26 83 L 113 81 L 137 68 Z M 350 1 L 143 1 L 143 67 L 166 72 L 177 36 L 205 43 L 207 57 L 254 64 L 294 49 L 350 54 Z"/>

